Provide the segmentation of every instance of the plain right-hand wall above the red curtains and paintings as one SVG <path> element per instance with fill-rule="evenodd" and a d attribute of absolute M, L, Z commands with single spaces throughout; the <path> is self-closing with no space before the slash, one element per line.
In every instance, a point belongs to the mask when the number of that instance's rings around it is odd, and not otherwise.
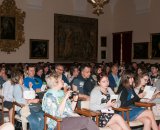
<path fill-rule="evenodd" d="M 159 0 L 118 0 L 114 8 L 112 31 L 133 31 L 133 43 L 150 42 L 150 34 L 160 32 L 159 5 Z M 150 50 L 149 57 L 151 57 Z M 160 63 L 160 60 L 155 59 L 132 59 L 137 62 L 142 60 Z"/>

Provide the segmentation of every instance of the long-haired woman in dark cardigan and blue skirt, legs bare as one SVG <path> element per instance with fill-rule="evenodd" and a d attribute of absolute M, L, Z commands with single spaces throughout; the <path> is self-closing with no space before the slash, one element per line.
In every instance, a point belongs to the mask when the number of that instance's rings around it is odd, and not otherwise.
<path fill-rule="evenodd" d="M 129 71 L 126 71 L 121 77 L 121 106 L 132 108 L 130 111 L 129 119 L 131 121 L 141 121 L 144 124 L 143 130 L 158 130 L 158 126 L 156 124 L 152 111 L 146 110 L 145 108 L 136 107 L 134 105 L 135 102 L 140 101 L 140 97 L 135 93 L 133 89 L 133 83 L 133 74 Z"/>

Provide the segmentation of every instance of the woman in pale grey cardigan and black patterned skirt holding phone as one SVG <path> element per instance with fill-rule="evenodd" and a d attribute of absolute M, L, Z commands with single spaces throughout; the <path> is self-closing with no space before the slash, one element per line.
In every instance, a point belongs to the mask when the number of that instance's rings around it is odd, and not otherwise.
<path fill-rule="evenodd" d="M 90 95 L 90 109 L 94 111 L 100 111 L 99 126 L 109 126 L 113 130 L 130 130 L 124 119 L 114 114 L 112 107 L 117 105 L 115 101 L 111 101 L 111 95 L 114 92 L 109 88 L 109 80 L 106 75 L 97 76 L 98 85 L 95 87 Z"/>

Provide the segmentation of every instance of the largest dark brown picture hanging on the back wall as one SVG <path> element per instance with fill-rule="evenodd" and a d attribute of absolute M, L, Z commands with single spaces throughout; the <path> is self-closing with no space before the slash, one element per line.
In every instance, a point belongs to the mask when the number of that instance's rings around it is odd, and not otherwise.
<path fill-rule="evenodd" d="M 98 20 L 54 15 L 55 62 L 96 62 Z"/>

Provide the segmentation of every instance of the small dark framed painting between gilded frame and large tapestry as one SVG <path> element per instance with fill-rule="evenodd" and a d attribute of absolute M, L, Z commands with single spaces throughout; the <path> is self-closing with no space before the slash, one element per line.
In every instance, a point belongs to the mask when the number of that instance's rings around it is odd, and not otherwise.
<path fill-rule="evenodd" d="M 49 58 L 49 40 L 30 39 L 30 59 Z"/>

